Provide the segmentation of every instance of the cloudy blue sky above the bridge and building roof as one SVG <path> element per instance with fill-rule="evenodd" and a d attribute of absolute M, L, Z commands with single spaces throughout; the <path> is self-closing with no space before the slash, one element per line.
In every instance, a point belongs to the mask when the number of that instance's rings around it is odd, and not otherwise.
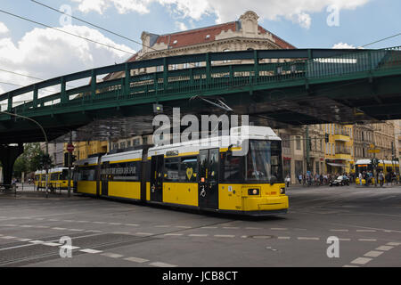
<path fill-rule="evenodd" d="M 143 31 L 162 35 L 207 27 L 238 20 L 249 10 L 258 14 L 259 25 L 298 48 L 354 48 L 401 33 L 399 0 L 36 1 L 131 41 L 32 0 L 0 0 L 0 10 L 4 12 L 102 43 L 94 44 L 0 12 L 0 94 L 39 79 L 126 61 L 141 49 L 135 41 L 141 42 Z M 366 48 L 398 45 L 401 36 Z"/>

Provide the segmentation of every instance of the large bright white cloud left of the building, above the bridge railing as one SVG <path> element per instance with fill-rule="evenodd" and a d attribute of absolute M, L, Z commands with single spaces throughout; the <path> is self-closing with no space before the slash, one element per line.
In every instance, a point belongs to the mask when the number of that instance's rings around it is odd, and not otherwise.
<path fill-rule="evenodd" d="M 114 43 L 93 28 L 65 26 L 59 29 L 135 53 L 128 46 Z M 123 62 L 130 55 L 66 35 L 52 28 L 34 28 L 26 33 L 18 43 L 13 43 L 9 37 L 0 38 L 0 66 L 2 69 L 44 79 Z M 16 85 L 29 85 L 38 80 L 0 71 L 0 81 Z M 17 88 L 5 84 L 0 84 L 0 87 L 2 88 L 0 94 Z"/>

